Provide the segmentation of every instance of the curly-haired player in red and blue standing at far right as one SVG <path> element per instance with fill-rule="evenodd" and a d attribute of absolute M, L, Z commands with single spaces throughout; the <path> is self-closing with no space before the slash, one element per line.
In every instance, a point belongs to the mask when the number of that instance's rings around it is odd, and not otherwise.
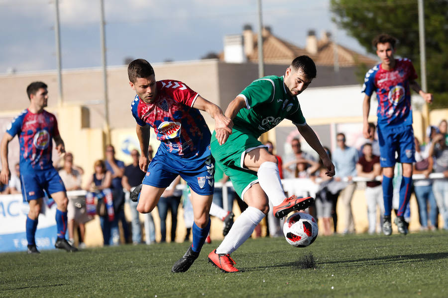
<path fill-rule="evenodd" d="M 412 129 L 411 90 L 420 94 L 426 102 L 433 101 L 433 95 L 422 90 L 415 81 L 417 74 L 409 59 L 395 59 L 396 39 L 380 34 L 372 41 L 381 63 L 367 72 L 362 86 L 365 93 L 362 104 L 363 134 L 370 138 L 368 116 L 370 97 L 373 91 L 378 98 L 378 141 L 380 164 L 383 168 L 384 219 L 383 233 L 392 233 L 391 211 L 395 162 L 401 162 L 403 179 L 400 186 L 400 200 L 394 223 L 402 234 L 408 233 L 403 213 L 411 197 L 412 170 L 415 162 L 414 131 Z M 398 157 L 396 157 L 398 156 Z"/>

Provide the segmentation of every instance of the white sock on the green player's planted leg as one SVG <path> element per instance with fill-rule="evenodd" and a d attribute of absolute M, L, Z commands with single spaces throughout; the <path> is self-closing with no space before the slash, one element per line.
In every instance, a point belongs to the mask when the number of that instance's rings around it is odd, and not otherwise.
<path fill-rule="evenodd" d="M 243 213 L 233 223 L 228 234 L 224 237 L 223 242 L 216 249 L 216 253 L 230 254 L 234 252 L 253 232 L 264 218 L 264 213 L 255 207 L 247 207 Z"/>

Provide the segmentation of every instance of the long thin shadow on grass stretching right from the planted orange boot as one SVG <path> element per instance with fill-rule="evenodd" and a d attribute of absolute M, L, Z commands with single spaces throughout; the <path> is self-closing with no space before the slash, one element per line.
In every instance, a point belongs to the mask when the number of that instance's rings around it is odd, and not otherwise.
<path fill-rule="evenodd" d="M 292 267 L 294 269 L 312 269 L 312 268 L 319 268 L 321 266 L 325 266 L 328 264 L 343 264 L 347 267 L 352 266 L 366 266 L 366 265 L 387 265 L 390 263 L 404 263 L 409 261 L 414 262 L 424 262 L 424 261 L 431 261 L 431 260 L 439 260 L 439 259 L 445 259 L 448 258 L 448 252 L 439 252 L 439 253 L 421 253 L 421 254 L 410 254 L 410 255 L 396 255 L 396 256 L 385 256 L 385 257 L 378 257 L 378 258 L 362 258 L 362 259 L 352 259 L 352 260 L 339 260 L 339 261 L 330 261 L 330 262 L 319 262 L 317 261 L 316 266 L 310 266 L 308 268 L 303 266 L 303 260 L 295 261 L 295 262 L 288 262 L 283 264 L 276 264 L 276 265 L 268 265 L 268 266 L 258 266 L 258 267 L 252 267 L 252 268 L 244 268 L 240 270 L 241 272 L 250 272 L 250 271 L 258 271 L 260 269 L 265 270 L 267 268 L 279 268 L 279 267 Z M 372 264 L 373 263 L 373 264 Z"/>

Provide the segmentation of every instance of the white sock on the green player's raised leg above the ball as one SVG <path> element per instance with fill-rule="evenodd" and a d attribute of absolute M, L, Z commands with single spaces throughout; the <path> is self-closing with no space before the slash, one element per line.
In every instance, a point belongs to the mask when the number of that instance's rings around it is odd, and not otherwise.
<path fill-rule="evenodd" d="M 272 161 L 263 162 L 258 168 L 257 176 L 261 189 L 266 193 L 272 205 L 277 206 L 282 203 L 286 195 L 283 191 L 277 164 Z"/>

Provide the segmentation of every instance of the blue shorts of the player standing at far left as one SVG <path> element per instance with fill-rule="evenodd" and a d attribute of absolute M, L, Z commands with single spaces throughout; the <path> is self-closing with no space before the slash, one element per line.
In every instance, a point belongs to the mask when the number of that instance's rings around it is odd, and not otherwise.
<path fill-rule="evenodd" d="M 20 181 L 23 202 L 43 198 L 44 190 L 49 195 L 65 191 L 64 182 L 53 167 L 47 170 L 36 170 L 32 173 L 21 173 Z"/>

